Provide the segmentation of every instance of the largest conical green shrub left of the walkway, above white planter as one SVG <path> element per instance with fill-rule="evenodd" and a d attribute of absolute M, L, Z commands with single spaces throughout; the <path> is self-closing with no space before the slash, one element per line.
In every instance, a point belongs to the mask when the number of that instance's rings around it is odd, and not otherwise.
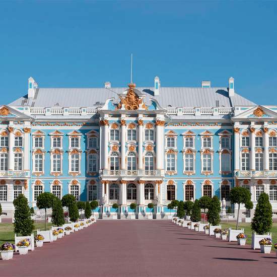
<path fill-rule="evenodd" d="M 35 226 L 34 221 L 31 219 L 28 199 L 23 194 L 19 194 L 13 203 L 15 206 L 14 233 L 30 236 Z"/>

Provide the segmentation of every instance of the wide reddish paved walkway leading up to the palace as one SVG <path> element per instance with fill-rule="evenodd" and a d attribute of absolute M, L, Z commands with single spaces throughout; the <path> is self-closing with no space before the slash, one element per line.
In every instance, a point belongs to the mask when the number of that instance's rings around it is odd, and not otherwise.
<path fill-rule="evenodd" d="M 28 255 L 0 276 L 276 276 L 277 258 L 169 221 L 97 221 Z"/>

